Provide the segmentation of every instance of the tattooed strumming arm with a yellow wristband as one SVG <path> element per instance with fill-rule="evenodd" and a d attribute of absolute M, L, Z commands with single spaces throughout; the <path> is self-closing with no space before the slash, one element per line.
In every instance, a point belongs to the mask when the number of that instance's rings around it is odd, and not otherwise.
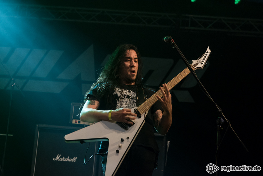
<path fill-rule="evenodd" d="M 110 110 L 98 110 L 99 106 L 100 103 L 96 98 L 89 98 L 80 112 L 80 120 L 84 122 L 109 121 Z M 126 108 L 112 110 L 111 113 L 111 119 L 113 121 L 125 122 L 128 124 L 132 124 L 132 122 L 127 120 L 134 120 L 136 116 L 135 113 L 131 112 L 131 109 Z"/>

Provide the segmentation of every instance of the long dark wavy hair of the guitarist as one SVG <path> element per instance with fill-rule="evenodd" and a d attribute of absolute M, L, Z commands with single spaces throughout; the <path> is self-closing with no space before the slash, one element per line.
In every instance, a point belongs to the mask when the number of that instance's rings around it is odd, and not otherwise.
<path fill-rule="evenodd" d="M 88 99 L 87 95 L 94 87 L 96 87 L 97 95 L 101 97 L 104 95 L 105 92 L 112 91 L 116 86 L 118 86 L 121 83 L 122 81 L 120 79 L 121 71 L 122 71 L 122 67 L 124 66 L 124 58 L 128 50 L 134 50 L 137 54 L 139 68 L 138 68 L 135 84 L 139 87 L 143 86 L 142 60 L 140 57 L 140 53 L 138 52 L 136 46 L 131 44 L 123 44 L 118 46 L 117 49 L 112 53 L 106 65 L 103 67 L 97 81 L 93 83 L 91 88 L 86 92 L 84 96 L 84 103 Z M 108 97 L 108 100 L 110 97 Z"/>

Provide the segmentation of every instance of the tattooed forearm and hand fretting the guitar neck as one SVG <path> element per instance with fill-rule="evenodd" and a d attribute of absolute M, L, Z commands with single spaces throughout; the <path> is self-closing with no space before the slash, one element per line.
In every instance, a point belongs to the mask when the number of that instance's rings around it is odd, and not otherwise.
<path fill-rule="evenodd" d="M 163 84 L 165 91 L 160 87 L 163 97 L 157 95 L 162 104 L 164 112 L 159 109 L 153 114 L 154 126 L 156 130 L 164 135 L 168 132 L 172 125 L 172 100 L 171 94 L 166 84 Z"/>

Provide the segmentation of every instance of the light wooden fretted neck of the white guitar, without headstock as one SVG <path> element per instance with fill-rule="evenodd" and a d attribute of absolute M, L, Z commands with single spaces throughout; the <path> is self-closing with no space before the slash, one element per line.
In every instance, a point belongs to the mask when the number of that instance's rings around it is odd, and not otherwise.
<path fill-rule="evenodd" d="M 185 78 L 190 73 L 190 70 L 188 68 L 185 68 L 181 73 L 179 73 L 176 77 L 174 77 L 171 81 L 167 83 L 167 86 L 169 90 L 171 90 L 175 85 L 177 85 L 183 78 Z M 164 88 L 162 88 L 164 90 Z M 155 102 L 157 102 L 157 95 L 162 97 L 161 90 L 158 90 L 155 92 L 149 99 L 147 99 L 144 103 L 142 103 L 137 110 L 140 112 L 140 114 L 143 114 L 146 112 L 149 108 L 153 106 Z"/>

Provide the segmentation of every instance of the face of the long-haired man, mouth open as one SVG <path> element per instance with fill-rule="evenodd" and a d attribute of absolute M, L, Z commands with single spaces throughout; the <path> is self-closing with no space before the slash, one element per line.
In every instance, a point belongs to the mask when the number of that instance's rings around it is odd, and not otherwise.
<path fill-rule="evenodd" d="M 138 57 L 134 50 L 127 50 L 124 58 L 121 79 L 126 85 L 135 85 L 135 79 L 138 73 Z"/>

